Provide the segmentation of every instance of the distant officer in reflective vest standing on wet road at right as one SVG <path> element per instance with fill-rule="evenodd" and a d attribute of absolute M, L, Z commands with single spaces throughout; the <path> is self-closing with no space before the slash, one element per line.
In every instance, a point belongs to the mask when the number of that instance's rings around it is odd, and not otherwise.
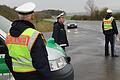
<path fill-rule="evenodd" d="M 111 44 L 111 57 L 118 57 L 115 54 L 115 36 L 118 34 L 117 26 L 114 17 L 112 16 L 112 10 L 108 9 L 107 14 L 102 22 L 102 30 L 105 35 L 105 56 L 109 56 L 109 42 Z"/>

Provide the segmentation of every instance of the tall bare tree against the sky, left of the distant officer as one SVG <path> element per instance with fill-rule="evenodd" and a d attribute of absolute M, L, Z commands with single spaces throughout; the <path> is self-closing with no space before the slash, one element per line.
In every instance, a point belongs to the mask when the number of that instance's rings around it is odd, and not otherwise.
<path fill-rule="evenodd" d="M 93 18 L 98 8 L 95 6 L 95 0 L 88 0 L 85 9 L 89 12 L 90 17 Z"/>

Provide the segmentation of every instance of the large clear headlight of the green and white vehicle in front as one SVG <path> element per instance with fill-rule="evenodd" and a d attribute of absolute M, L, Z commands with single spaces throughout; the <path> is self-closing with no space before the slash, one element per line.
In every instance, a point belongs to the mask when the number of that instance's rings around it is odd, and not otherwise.
<path fill-rule="evenodd" d="M 62 69 L 67 64 L 64 57 L 61 57 L 61 58 L 55 59 L 55 60 L 50 60 L 49 63 L 50 63 L 51 71 L 56 71 L 56 70 Z"/>

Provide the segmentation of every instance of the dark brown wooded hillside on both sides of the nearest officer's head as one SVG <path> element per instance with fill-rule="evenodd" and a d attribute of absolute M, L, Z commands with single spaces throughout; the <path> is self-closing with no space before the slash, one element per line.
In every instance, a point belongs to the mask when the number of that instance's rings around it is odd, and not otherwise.
<path fill-rule="evenodd" d="M 14 21 L 18 19 L 17 12 L 14 10 L 15 8 L 10 8 L 6 5 L 0 5 L 0 15 L 6 17 L 10 21 Z M 49 19 L 53 16 L 57 16 L 60 13 L 65 11 L 61 10 L 43 10 L 43 11 L 35 11 L 35 20 L 41 19 Z"/>

